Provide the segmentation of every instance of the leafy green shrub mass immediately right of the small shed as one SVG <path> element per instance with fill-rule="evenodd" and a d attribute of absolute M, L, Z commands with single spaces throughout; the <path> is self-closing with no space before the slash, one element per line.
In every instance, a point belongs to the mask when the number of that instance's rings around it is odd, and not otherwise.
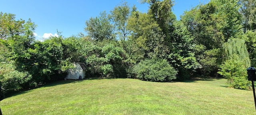
<path fill-rule="evenodd" d="M 101 77 L 126 77 L 125 63 L 123 62 L 125 52 L 113 44 L 98 47 L 93 44 L 84 49 L 88 72 L 91 75 L 104 75 Z"/>

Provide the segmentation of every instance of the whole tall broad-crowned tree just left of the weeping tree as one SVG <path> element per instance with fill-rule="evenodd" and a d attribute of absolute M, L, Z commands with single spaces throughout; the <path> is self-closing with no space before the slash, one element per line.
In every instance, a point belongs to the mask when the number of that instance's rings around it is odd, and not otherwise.
<path fill-rule="evenodd" d="M 243 34 L 239 8 L 238 0 L 210 0 L 208 4 L 200 4 L 184 12 L 181 17 L 197 45 L 196 57 L 203 65 L 198 70 L 200 74 L 216 73 L 222 62 L 223 44 Z"/>

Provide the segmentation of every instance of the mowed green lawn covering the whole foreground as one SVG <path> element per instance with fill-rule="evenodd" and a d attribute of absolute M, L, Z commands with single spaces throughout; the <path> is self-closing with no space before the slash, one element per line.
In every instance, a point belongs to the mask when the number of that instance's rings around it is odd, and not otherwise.
<path fill-rule="evenodd" d="M 226 79 L 60 81 L 0 101 L 3 115 L 255 115 L 252 91 Z"/>

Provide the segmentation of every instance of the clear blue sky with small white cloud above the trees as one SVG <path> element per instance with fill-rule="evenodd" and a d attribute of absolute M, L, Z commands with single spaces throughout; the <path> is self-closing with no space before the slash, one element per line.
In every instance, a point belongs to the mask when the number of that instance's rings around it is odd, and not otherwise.
<path fill-rule="evenodd" d="M 148 4 L 140 0 L 125 0 L 130 6 L 136 5 L 141 12 L 147 12 Z M 184 11 L 209 0 L 175 0 L 173 11 L 177 19 Z M 32 20 L 38 27 L 36 39 L 56 35 L 57 29 L 64 37 L 84 32 L 85 21 L 109 12 L 122 0 L 1 0 L 0 12 L 16 14 L 16 20 Z"/>

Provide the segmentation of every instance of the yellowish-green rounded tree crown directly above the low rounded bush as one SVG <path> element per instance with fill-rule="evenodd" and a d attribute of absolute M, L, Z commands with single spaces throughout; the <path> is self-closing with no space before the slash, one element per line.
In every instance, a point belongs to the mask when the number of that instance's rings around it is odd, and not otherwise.
<path fill-rule="evenodd" d="M 128 19 L 128 29 L 132 31 L 131 40 L 143 48 L 147 57 L 165 57 L 168 49 L 164 45 L 164 35 L 152 16 L 138 11 L 132 12 Z"/>

